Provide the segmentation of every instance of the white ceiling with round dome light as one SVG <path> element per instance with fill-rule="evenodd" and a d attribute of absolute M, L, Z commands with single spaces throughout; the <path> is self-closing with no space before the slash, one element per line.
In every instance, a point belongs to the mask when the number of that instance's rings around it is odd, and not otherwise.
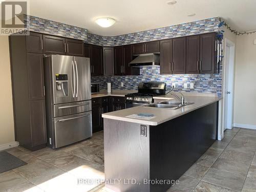
<path fill-rule="evenodd" d="M 238 31 L 256 30 L 256 0 L 30 0 L 30 15 L 115 36 L 195 20 L 222 17 Z M 188 17 L 188 14 L 196 13 Z M 116 19 L 110 28 L 95 23 L 98 17 Z"/>

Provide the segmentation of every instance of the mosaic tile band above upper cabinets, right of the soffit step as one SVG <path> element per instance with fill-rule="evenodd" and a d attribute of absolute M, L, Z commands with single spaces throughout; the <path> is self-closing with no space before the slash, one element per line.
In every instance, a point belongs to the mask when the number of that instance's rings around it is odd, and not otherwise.
<path fill-rule="evenodd" d="M 166 38 L 181 37 L 187 35 L 195 35 L 200 33 L 209 33 L 218 31 L 219 17 L 198 20 L 185 24 L 162 27 L 136 33 L 129 33 L 118 36 L 99 36 L 88 33 L 89 44 L 101 46 L 120 46 L 127 44 L 135 44 L 137 42 L 145 42 Z"/>

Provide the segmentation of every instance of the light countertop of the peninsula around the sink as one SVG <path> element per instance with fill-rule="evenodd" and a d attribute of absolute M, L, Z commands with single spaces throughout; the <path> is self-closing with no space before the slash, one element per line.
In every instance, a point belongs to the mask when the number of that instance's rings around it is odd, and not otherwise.
<path fill-rule="evenodd" d="M 174 99 L 173 96 L 165 95 L 160 97 L 154 97 L 156 99 Z M 107 119 L 115 119 L 127 122 L 134 122 L 146 125 L 158 125 L 163 122 L 169 121 L 196 109 L 202 108 L 208 104 L 217 102 L 221 100 L 220 97 L 209 97 L 209 96 L 185 96 L 186 102 L 194 102 L 193 104 L 189 104 L 183 106 L 179 109 L 167 109 L 167 108 L 152 108 L 152 107 L 145 107 L 145 106 L 136 106 L 134 108 L 114 111 L 110 113 L 102 114 L 103 118 Z M 128 118 L 126 116 L 139 114 L 139 113 L 151 113 L 155 115 L 155 118 L 150 120 L 143 120 L 143 119 L 135 119 L 135 118 Z"/>

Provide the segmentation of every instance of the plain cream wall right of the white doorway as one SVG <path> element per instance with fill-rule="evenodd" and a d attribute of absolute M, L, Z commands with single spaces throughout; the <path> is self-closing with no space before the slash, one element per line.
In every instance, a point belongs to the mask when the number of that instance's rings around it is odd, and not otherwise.
<path fill-rule="evenodd" d="M 256 129 L 256 34 L 237 36 L 234 126 Z"/>

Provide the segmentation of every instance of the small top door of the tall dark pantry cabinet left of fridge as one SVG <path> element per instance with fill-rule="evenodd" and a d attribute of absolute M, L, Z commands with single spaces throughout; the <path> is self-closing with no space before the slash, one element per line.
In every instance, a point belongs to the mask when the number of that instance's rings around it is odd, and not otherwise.
<path fill-rule="evenodd" d="M 26 49 L 30 53 L 42 53 L 42 34 L 30 32 L 26 35 Z"/>

